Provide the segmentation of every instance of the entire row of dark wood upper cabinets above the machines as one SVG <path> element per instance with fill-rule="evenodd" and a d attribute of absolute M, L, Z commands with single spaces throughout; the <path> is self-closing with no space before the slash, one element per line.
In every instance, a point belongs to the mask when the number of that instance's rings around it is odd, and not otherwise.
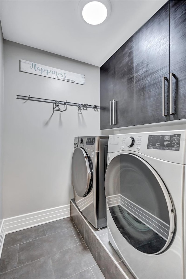
<path fill-rule="evenodd" d="M 186 118 L 185 0 L 168 1 L 101 66 L 100 109 L 100 129 Z"/>

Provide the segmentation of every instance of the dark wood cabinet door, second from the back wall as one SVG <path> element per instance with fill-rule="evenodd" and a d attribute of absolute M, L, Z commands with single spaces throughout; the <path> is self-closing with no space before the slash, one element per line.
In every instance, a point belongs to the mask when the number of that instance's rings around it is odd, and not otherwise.
<path fill-rule="evenodd" d="M 135 125 L 135 45 L 134 35 L 114 54 L 114 99 L 117 100 L 117 124 Z"/>

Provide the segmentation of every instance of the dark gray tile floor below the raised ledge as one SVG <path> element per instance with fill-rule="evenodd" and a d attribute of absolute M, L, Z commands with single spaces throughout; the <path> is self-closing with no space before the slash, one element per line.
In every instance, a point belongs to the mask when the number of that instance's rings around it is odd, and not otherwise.
<path fill-rule="evenodd" d="M 104 279 L 71 218 L 5 237 L 1 279 Z"/>

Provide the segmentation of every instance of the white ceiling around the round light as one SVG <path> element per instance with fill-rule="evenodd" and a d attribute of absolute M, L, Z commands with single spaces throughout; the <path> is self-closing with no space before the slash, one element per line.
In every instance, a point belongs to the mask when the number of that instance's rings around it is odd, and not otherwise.
<path fill-rule="evenodd" d="M 83 21 L 78 0 L 1 0 L 6 40 L 101 66 L 167 0 L 111 0 L 101 25 Z"/>

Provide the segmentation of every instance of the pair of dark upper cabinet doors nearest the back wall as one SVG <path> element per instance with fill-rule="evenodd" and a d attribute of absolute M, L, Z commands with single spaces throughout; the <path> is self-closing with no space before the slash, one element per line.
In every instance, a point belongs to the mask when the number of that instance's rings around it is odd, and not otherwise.
<path fill-rule="evenodd" d="M 100 129 L 135 125 L 134 37 L 100 67 Z"/>

